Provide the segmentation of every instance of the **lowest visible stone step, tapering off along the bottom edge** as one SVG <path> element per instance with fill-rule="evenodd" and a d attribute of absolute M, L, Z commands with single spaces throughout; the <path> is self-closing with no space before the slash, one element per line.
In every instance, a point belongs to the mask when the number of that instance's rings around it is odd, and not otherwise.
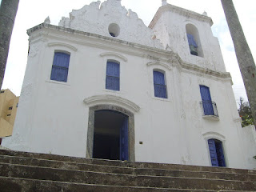
<path fill-rule="evenodd" d="M 217 190 L 183 190 L 174 188 L 154 188 L 138 186 L 105 186 L 95 184 L 81 184 L 72 182 L 56 182 L 26 178 L 0 177 L 2 192 L 35 192 L 35 191 L 62 191 L 62 192 L 217 192 Z M 227 190 L 222 190 L 227 192 Z M 229 190 L 229 192 L 232 192 Z M 234 192 L 234 191 L 233 191 Z M 242 192 L 236 190 L 235 192 Z M 243 190 L 245 192 L 245 190 Z"/>

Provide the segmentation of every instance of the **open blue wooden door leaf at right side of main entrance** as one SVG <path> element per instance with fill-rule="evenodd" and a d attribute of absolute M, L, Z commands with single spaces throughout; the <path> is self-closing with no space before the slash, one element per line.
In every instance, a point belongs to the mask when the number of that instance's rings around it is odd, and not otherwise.
<path fill-rule="evenodd" d="M 125 118 L 120 129 L 120 160 L 128 158 L 128 118 Z"/>

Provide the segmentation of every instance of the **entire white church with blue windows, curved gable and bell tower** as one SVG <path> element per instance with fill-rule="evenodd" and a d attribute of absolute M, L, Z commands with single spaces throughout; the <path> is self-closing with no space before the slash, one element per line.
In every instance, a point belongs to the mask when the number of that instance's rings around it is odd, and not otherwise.
<path fill-rule="evenodd" d="M 27 31 L 11 150 L 256 168 L 213 22 L 162 1 L 150 26 L 121 0 Z M 247 128 L 249 129 L 249 128 Z M 251 146 L 251 147 L 248 147 Z"/>

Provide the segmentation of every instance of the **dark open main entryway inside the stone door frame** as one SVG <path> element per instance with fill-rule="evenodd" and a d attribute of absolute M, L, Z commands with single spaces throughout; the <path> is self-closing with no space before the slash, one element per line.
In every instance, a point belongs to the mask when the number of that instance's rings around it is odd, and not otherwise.
<path fill-rule="evenodd" d="M 114 110 L 96 110 L 93 158 L 128 160 L 128 157 L 128 116 Z"/>

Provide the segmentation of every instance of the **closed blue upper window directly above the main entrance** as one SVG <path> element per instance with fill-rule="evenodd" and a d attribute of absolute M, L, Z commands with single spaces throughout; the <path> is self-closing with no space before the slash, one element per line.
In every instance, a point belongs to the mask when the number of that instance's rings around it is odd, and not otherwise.
<path fill-rule="evenodd" d="M 120 90 L 120 65 L 117 62 L 106 62 L 106 89 Z"/>

